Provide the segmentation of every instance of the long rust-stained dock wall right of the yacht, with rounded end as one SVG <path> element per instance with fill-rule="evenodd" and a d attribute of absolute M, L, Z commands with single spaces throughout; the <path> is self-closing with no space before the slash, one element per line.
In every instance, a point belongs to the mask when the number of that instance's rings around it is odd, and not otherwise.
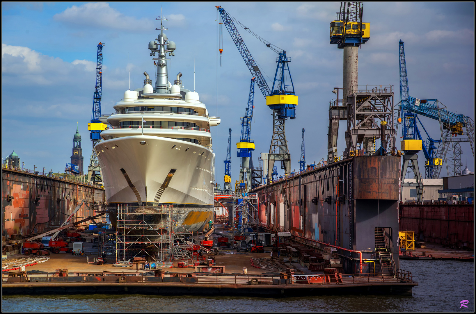
<path fill-rule="evenodd" d="M 389 230 L 398 269 L 400 157 L 357 156 L 296 174 L 251 192 L 258 193 L 260 226 L 290 232 L 294 239 L 358 250 L 363 272 L 374 271 L 376 227 Z M 357 273 L 359 255 L 339 250 L 344 271 Z M 373 259 L 373 262 L 365 262 Z M 377 271 L 378 271 L 378 262 Z"/>

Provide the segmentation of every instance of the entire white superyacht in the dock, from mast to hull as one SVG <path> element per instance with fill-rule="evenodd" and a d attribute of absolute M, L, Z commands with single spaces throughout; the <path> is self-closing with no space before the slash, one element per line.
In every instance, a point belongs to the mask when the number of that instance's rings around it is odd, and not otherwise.
<path fill-rule="evenodd" d="M 178 206 L 189 231 L 203 231 L 213 217 L 215 154 L 209 117 L 198 93 L 183 87 L 178 73 L 169 82 L 166 54 L 174 55 L 161 21 L 156 40 L 149 42 L 157 63 L 155 87 L 144 72 L 143 88 L 126 90 L 116 112 L 101 121 L 109 125 L 95 149 L 102 169 L 106 198 L 112 206 Z M 149 207 L 150 208 L 150 207 Z"/>

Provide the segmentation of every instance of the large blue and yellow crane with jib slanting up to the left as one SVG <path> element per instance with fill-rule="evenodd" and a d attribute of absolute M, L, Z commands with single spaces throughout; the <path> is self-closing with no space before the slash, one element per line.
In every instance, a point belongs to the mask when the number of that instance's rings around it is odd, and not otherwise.
<path fill-rule="evenodd" d="M 245 42 L 238 33 L 238 29 L 235 27 L 232 17 L 222 7 L 217 6 L 216 8 L 220 13 L 223 24 L 228 29 L 233 42 L 237 46 L 238 51 L 245 60 L 249 71 L 255 78 L 256 84 L 258 84 L 259 89 L 266 98 L 266 105 L 273 110 L 273 136 L 271 139 L 268 155 L 268 183 L 270 183 L 275 160 L 281 161 L 281 168 L 284 169 L 286 175 L 288 175 L 291 171 L 291 155 L 289 154 L 288 141 L 286 140 L 286 133 L 284 129 L 287 118 L 296 118 L 297 96 L 294 92 L 294 85 L 288 65 L 288 63 L 291 61 L 291 58 L 287 57 L 285 50 L 270 44 L 268 41 L 259 37 L 257 34 L 249 30 L 249 28 L 245 27 L 235 19 L 238 25 L 246 29 L 250 34 L 263 42 L 268 48 L 278 53 L 278 58 L 276 58 L 278 65 L 274 76 L 273 87 L 270 89 L 268 83 L 261 74 L 256 61 L 251 56 L 251 53 L 246 47 Z"/>

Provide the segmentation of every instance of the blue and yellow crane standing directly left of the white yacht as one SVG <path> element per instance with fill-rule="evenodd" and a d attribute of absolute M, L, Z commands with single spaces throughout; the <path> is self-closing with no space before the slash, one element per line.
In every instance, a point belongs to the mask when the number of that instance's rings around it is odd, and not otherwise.
<path fill-rule="evenodd" d="M 96 87 L 93 95 L 91 122 L 88 123 L 88 130 L 91 131 L 89 137 L 92 141 L 92 153 L 88 167 L 88 181 L 93 184 L 102 184 L 101 167 L 99 166 L 98 156 L 94 147 L 101 141 L 100 133 L 107 128 L 107 125 L 101 123 L 101 97 L 102 97 L 102 47 L 104 43 L 98 44 L 98 56 L 96 61 Z"/>

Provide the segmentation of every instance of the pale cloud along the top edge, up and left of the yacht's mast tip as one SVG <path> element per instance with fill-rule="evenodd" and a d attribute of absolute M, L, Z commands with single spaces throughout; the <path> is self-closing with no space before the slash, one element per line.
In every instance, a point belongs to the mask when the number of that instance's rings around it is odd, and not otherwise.
<path fill-rule="evenodd" d="M 119 29 L 126 31 L 142 31 L 154 28 L 151 20 L 140 20 L 126 16 L 109 7 L 109 3 L 86 3 L 79 7 L 73 5 L 53 16 L 54 20 L 69 25 Z"/>

